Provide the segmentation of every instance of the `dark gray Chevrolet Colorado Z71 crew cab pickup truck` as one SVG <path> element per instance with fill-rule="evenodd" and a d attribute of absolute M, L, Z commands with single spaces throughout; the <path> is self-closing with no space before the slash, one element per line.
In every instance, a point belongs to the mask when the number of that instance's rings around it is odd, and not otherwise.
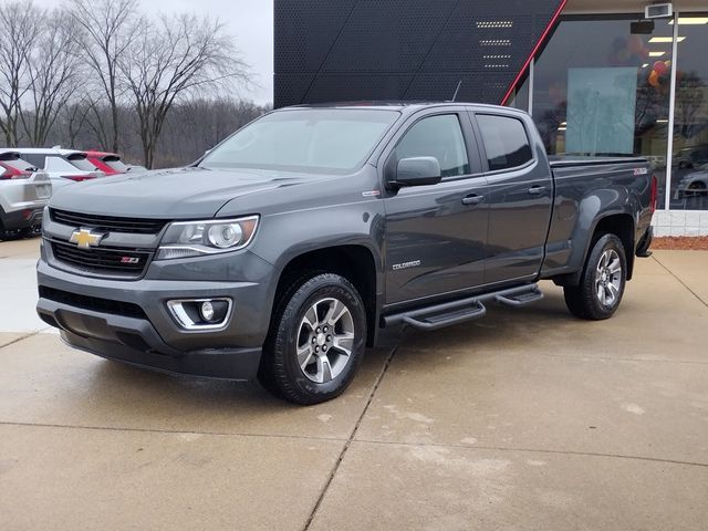
<path fill-rule="evenodd" d="M 258 376 L 314 404 L 346 388 L 385 329 L 521 306 L 541 279 L 574 315 L 610 317 L 648 236 L 648 168 L 549 164 L 529 115 L 507 107 L 282 108 L 191 167 L 60 190 L 38 312 L 106 358 Z"/>

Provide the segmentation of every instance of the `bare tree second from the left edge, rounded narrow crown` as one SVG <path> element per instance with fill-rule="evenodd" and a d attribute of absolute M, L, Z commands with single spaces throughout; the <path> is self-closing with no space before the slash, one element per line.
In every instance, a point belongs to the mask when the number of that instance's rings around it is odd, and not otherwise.
<path fill-rule="evenodd" d="M 44 19 L 41 37 L 31 54 L 28 71 L 30 86 L 20 114 L 22 127 L 32 146 L 42 146 L 60 111 L 74 94 L 82 77 L 75 21 L 55 9 Z"/>

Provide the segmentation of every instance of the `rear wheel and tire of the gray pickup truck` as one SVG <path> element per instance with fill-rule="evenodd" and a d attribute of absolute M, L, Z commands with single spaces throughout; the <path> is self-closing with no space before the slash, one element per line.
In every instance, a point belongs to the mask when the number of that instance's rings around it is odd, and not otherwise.
<path fill-rule="evenodd" d="M 600 238 L 587 256 L 580 283 L 563 288 L 570 312 L 591 321 L 612 317 L 624 294 L 626 264 L 622 240 L 615 235 Z"/>

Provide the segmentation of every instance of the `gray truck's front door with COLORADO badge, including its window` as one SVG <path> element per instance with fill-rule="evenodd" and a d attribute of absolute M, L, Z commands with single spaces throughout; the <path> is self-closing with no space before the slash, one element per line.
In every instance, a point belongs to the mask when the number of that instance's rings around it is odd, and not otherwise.
<path fill-rule="evenodd" d="M 403 158 L 435 157 L 442 181 L 387 191 L 386 302 L 482 284 L 486 178 L 466 111 L 437 108 L 417 114 L 392 144 L 384 173 L 395 171 Z"/>

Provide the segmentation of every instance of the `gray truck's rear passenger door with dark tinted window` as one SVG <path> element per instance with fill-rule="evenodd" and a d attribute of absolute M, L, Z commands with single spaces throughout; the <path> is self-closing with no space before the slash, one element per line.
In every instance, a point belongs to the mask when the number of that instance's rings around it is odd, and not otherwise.
<path fill-rule="evenodd" d="M 485 283 L 533 279 L 543 262 L 551 219 L 553 177 L 533 125 L 510 112 L 471 114 L 482 146 L 489 209 Z"/>

